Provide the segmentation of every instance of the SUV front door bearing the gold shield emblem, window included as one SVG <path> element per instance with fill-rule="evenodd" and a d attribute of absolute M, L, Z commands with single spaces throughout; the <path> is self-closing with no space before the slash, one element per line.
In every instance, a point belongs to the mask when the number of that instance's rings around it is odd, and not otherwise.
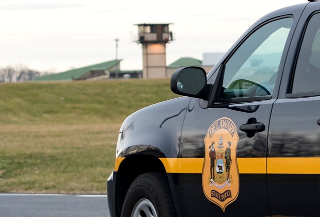
<path fill-rule="evenodd" d="M 292 15 L 265 20 L 208 79 L 214 103 L 190 100 L 179 151 L 190 162 L 177 177 L 181 216 L 270 215 L 267 132 L 295 22 Z"/>

